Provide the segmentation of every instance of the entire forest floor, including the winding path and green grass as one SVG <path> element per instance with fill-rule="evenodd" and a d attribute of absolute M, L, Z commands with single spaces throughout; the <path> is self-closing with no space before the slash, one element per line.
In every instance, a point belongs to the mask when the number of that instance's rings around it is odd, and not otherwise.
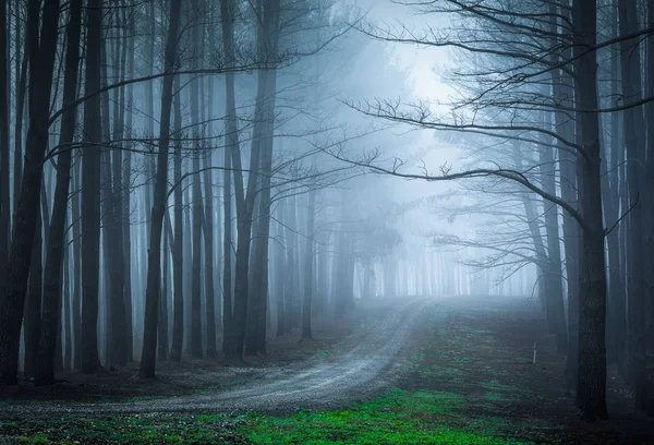
<path fill-rule="evenodd" d="M 0 399 L 0 443 L 647 444 L 609 376 L 611 420 L 578 421 L 533 301 L 412 299 L 274 340 L 268 358 L 62 376 Z M 534 365 L 533 344 L 537 345 Z"/>

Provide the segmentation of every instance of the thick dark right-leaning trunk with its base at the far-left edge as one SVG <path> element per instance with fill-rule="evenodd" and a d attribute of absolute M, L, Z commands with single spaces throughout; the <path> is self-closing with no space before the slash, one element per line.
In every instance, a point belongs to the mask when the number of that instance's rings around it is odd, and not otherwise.
<path fill-rule="evenodd" d="M 21 323 L 27 290 L 32 245 L 37 229 L 43 160 L 48 146 L 48 117 L 57 57 L 59 1 L 31 0 L 27 13 L 29 65 L 29 130 L 24 173 L 12 231 L 4 291 L 0 297 L 0 387 L 16 384 Z M 39 35 L 40 29 L 40 35 Z M 37 68 L 38 67 L 38 68 Z M 36 94 L 39 92 L 39 94 Z"/>

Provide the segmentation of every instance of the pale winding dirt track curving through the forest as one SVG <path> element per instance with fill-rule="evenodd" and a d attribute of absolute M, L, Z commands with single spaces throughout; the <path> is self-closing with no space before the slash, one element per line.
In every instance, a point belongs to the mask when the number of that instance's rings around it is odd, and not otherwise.
<path fill-rule="evenodd" d="M 410 334 L 424 322 L 434 300 L 414 300 L 398 308 L 364 333 L 356 345 L 342 345 L 332 358 L 271 370 L 264 381 L 239 389 L 134 402 L 38 402 L 3 407 L 3 416 L 126 414 L 197 411 L 277 411 L 329 407 L 371 394 L 392 381 L 401 368 Z"/>

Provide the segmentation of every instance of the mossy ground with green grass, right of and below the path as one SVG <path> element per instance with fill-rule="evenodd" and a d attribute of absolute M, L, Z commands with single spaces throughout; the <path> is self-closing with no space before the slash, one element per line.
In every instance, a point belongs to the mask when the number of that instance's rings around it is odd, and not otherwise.
<path fill-rule="evenodd" d="M 0 443 L 649 443 L 650 436 L 623 436 L 621 424 L 609 425 L 607 436 L 606 430 L 580 432 L 570 423 L 574 413 L 562 386 L 564 363 L 533 305 L 446 300 L 431 311 L 393 386 L 348 407 L 3 422 Z M 322 349 L 314 353 L 330 354 Z"/>

